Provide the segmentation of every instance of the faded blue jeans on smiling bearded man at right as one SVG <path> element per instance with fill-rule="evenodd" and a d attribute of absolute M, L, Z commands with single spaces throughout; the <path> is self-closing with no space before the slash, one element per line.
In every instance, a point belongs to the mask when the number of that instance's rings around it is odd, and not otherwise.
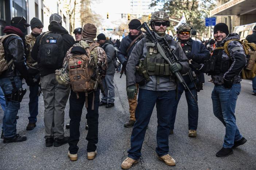
<path fill-rule="evenodd" d="M 226 127 L 223 147 L 231 148 L 234 141 L 242 138 L 237 126 L 236 109 L 237 97 L 241 91 L 241 84 L 233 84 L 232 88 L 226 89 L 223 85 L 215 85 L 212 91 L 213 113 Z"/>

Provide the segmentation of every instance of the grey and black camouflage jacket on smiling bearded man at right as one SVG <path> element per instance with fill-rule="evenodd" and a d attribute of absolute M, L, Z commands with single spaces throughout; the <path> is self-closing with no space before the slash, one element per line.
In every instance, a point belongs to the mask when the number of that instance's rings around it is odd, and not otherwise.
<path fill-rule="evenodd" d="M 237 39 L 240 40 L 240 36 L 237 33 L 230 33 L 223 41 L 217 43 L 217 47 L 224 46 L 224 43 L 228 40 Z M 230 56 L 226 54 L 225 50 L 222 51 L 223 59 L 231 59 L 231 66 L 226 73 L 220 73 L 218 75 L 212 75 L 212 80 L 215 85 L 224 84 L 223 78 L 226 80 L 233 80 L 233 84 L 239 83 L 241 80 L 241 70 L 246 64 L 245 54 L 243 46 L 238 41 L 230 41 L 228 44 L 228 51 Z"/>

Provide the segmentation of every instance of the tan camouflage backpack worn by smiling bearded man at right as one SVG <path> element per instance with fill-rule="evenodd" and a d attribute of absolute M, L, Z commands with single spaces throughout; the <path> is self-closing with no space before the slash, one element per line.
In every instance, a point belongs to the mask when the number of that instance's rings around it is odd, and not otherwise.
<path fill-rule="evenodd" d="M 228 52 L 228 43 L 230 41 L 238 41 L 244 48 L 245 57 L 246 57 L 246 66 L 243 68 L 241 73 L 241 78 L 247 79 L 247 78 L 253 78 L 256 76 L 256 44 L 254 43 L 248 43 L 247 40 L 228 40 L 224 43 L 224 46 L 217 47 L 215 49 L 224 49 L 225 52 L 229 56 Z"/>

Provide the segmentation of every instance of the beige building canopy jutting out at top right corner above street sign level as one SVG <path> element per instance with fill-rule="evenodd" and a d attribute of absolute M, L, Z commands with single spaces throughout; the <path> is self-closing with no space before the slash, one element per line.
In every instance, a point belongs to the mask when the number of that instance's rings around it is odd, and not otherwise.
<path fill-rule="evenodd" d="M 230 0 L 210 11 L 211 16 L 256 14 L 256 0 Z"/>

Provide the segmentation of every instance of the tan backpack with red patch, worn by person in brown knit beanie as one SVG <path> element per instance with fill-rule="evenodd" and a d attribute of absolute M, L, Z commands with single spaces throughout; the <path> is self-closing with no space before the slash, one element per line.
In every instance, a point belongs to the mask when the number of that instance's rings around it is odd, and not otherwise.
<path fill-rule="evenodd" d="M 92 43 L 89 49 L 86 48 L 87 54 L 73 54 L 67 61 L 72 89 L 77 94 L 77 98 L 79 98 L 78 92 L 85 92 L 86 108 L 88 108 L 88 92 L 93 90 L 96 84 L 91 77 L 94 74 L 94 68 L 97 67 L 97 55 L 92 55 L 91 52 L 97 46 Z"/>

